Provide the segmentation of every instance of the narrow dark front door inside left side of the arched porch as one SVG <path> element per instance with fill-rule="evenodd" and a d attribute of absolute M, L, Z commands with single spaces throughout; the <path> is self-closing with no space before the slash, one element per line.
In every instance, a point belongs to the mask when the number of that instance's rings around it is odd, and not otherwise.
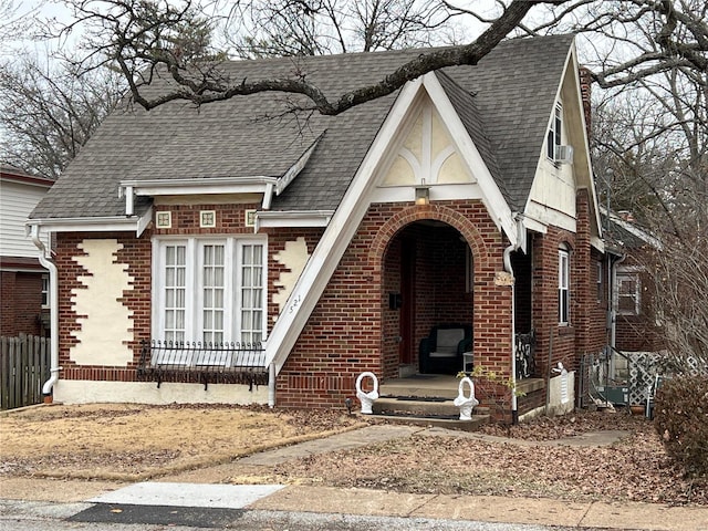
<path fill-rule="evenodd" d="M 400 249 L 400 343 L 398 361 L 402 365 L 412 364 L 415 360 L 415 322 L 416 322 L 416 247 L 415 240 L 405 238 Z"/>

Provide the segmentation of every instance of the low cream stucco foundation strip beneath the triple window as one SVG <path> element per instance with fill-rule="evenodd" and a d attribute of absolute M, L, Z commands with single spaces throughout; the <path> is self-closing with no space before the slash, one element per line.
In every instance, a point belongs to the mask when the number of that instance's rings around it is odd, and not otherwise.
<path fill-rule="evenodd" d="M 268 386 L 177 384 L 163 382 L 93 382 L 60 379 L 54 386 L 54 402 L 62 404 L 268 404 Z"/>

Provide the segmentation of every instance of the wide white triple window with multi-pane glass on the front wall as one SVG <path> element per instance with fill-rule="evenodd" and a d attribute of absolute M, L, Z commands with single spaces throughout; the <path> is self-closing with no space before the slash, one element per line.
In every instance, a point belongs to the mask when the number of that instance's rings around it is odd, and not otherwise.
<path fill-rule="evenodd" d="M 254 238 L 155 239 L 153 336 L 207 344 L 263 341 L 266 250 Z"/>

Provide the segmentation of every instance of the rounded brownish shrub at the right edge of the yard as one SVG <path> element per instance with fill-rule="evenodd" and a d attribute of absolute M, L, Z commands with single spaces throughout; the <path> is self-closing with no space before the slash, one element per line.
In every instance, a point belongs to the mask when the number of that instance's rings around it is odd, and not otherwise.
<path fill-rule="evenodd" d="M 654 423 L 671 459 L 689 476 L 708 476 L 708 376 L 665 381 Z"/>

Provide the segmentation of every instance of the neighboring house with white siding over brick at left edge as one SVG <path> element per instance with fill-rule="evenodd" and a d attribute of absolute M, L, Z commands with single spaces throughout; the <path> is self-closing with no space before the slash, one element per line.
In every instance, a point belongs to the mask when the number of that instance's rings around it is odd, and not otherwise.
<path fill-rule="evenodd" d="M 0 166 L 0 335 L 49 334 L 49 274 L 25 222 L 53 180 Z"/>

